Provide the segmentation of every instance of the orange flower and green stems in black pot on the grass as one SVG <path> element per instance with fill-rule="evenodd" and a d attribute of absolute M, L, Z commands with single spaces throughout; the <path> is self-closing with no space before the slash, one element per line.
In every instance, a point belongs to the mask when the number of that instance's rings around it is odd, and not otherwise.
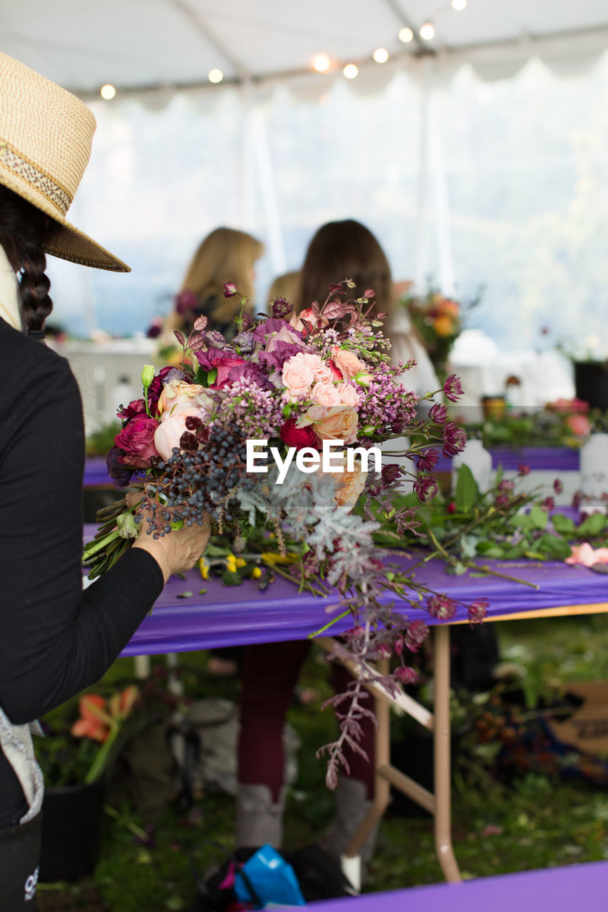
<path fill-rule="evenodd" d="M 134 686 L 108 699 L 86 693 L 44 720 L 45 737 L 37 739 L 37 761 L 47 782 L 40 881 L 90 875 L 97 865 L 105 773 L 138 694 Z"/>

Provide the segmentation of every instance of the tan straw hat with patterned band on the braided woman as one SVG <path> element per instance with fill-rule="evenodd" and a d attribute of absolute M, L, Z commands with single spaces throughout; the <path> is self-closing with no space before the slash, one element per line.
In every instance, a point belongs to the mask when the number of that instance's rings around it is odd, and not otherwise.
<path fill-rule="evenodd" d="M 0 183 L 53 220 L 47 254 L 128 273 L 129 266 L 66 221 L 95 127 L 79 98 L 0 53 Z"/>

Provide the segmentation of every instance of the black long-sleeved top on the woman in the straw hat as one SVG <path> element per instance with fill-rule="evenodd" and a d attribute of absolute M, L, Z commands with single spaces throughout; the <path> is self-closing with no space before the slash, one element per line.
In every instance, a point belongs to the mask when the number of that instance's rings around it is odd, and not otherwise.
<path fill-rule="evenodd" d="M 14 337 L 16 351 L 0 338 L 0 706 L 19 724 L 99 679 L 163 580 L 138 548 L 83 592 L 79 389 L 64 358 Z"/>

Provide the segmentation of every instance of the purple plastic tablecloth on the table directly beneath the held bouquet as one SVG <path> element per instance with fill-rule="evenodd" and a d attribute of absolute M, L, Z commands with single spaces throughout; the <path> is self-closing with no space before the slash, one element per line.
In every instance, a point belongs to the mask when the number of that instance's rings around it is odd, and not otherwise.
<path fill-rule="evenodd" d="M 95 526 L 85 527 L 86 540 L 94 533 Z M 413 563 L 404 557 L 391 558 L 391 561 L 402 566 Z M 448 575 L 444 565 L 436 560 L 419 567 L 416 579 L 463 603 L 457 606 L 455 620 L 465 620 L 466 606 L 482 597 L 489 601 L 489 616 L 556 606 L 600 603 L 608 606 L 608 575 L 595 574 L 585 567 L 523 561 L 487 561 L 487 565 L 538 588 L 497 576 Z M 203 588 L 206 592 L 200 595 L 199 590 Z M 185 592 L 193 595 L 180 597 Z M 242 586 L 225 586 L 218 579 L 203 580 L 197 570 L 191 570 L 185 579 L 172 576 L 152 615 L 145 618 L 122 655 L 154 655 L 305 639 L 330 620 L 327 609 L 338 602 L 338 596 L 320 598 L 299 594 L 296 586 L 282 577 L 277 577 L 265 592 L 260 592 L 254 580 L 246 580 Z M 421 617 L 429 625 L 437 623 L 422 609 L 404 605 L 404 613 L 410 619 Z M 345 618 L 332 627 L 332 632 L 339 633 L 350 626 L 351 621 Z"/>

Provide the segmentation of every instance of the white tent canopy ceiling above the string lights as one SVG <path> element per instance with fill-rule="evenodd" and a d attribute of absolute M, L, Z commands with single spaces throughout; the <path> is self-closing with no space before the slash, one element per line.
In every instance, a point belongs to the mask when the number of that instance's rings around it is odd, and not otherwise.
<path fill-rule="evenodd" d="M 457 0 L 456 0 L 457 5 Z M 435 37 L 419 36 L 426 22 Z M 409 26 L 413 39 L 398 33 Z M 2 49 L 79 94 L 285 78 L 310 71 L 324 52 L 330 70 L 367 66 L 384 47 L 402 63 L 420 55 L 564 60 L 605 47 L 605 0 L 19 0 L 0 10 Z M 491 55 L 488 57 L 487 49 Z M 488 71 L 489 72 L 489 71 Z"/>

